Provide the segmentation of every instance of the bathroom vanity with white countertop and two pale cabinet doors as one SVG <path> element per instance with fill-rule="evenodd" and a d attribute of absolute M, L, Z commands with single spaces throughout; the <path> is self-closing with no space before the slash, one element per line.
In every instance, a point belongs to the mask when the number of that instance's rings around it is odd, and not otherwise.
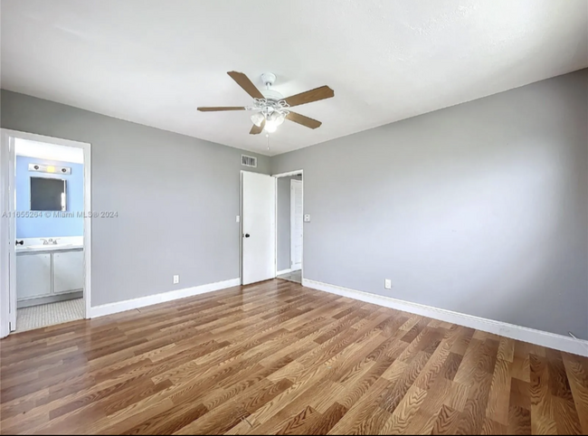
<path fill-rule="evenodd" d="M 83 297 L 83 262 L 79 244 L 17 246 L 17 307 Z"/>

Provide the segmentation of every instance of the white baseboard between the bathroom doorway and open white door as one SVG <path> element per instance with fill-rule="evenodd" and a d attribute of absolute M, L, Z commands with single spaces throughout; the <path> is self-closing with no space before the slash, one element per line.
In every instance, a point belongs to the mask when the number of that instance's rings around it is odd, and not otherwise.
<path fill-rule="evenodd" d="M 156 295 L 148 295 L 147 297 L 140 297 L 138 299 L 127 299 L 117 303 L 103 304 L 90 308 L 89 318 L 104 317 L 113 313 L 124 312 L 133 308 L 145 308 L 157 303 L 165 303 L 174 299 L 185 299 L 186 297 L 193 297 L 194 295 L 205 294 L 206 292 L 213 292 L 214 290 L 232 288 L 239 286 L 241 279 L 232 279 L 217 281 L 216 283 L 208 283 L 206 285 L 194 286 L 192 288 L 170 290 Z"/>

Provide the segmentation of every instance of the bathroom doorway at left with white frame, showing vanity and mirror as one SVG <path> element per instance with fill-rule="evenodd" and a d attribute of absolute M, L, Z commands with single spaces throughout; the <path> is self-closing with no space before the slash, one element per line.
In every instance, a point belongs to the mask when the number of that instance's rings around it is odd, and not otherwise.
<path fill-rule="evenodd" d="M 90 145 L 3 129 L 2 151 L 1 336 L 88 318 Z"/>

